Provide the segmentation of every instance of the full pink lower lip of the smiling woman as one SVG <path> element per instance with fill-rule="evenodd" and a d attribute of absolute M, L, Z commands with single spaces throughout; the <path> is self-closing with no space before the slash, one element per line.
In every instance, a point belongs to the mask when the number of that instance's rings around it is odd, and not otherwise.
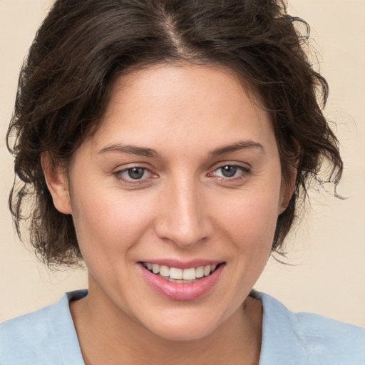
<path fill-rule="evenodd" d="M 202 277 L 201 279 L 198 279 L 197 282 L 183 284 L 178 282 L 169 282 L 168 280 L 162 279 L 161 277 L 158 277 L 158 275 L 148 271 L 148 269 L 145 269 L 145 267 L 140 264 L 143 277 L 145 277 L 148 284 L 150 284 L 156 292 L 163 295 L 163 297 L 174 300 L 198 299 L 210 292 L 210 290 L 215 286 L 223 267 L 225 267 L 225 265 L 220 264 L 217 269 L 215 269 L 215 271 L 207 277 Z"/>

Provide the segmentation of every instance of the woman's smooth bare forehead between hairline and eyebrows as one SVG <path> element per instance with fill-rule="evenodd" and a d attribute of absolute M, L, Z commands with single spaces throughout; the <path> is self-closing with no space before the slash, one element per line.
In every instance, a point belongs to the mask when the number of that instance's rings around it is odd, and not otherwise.
<path fill-rule="evenodd" d="M 269 113 L 231 71 L 163 64 L 115 81 L 94 142 L 215 148 L 247 139 L 270 144 L 273 135 Z"/>

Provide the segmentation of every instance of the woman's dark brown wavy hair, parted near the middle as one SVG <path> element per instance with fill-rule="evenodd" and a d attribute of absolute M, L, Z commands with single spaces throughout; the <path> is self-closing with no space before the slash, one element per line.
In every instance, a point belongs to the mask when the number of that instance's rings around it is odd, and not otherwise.
<path fill-rule="evenodd" d="M 58 212 L 48 192 L 41 153 L 67 168 L 101 123 L 115 78 L 184 61 L 229 68 L 271 110 L 283 179 L 297 168 L 272 243 L 280 252 L 322 165 L 322 181 L 336 185 L 342 173 L 338 142 L 322 113 L 327 82 L 304 52 L 308 39 L 307 23 L 289 16 L 280 0 L 56 1 L 21 69 L 7 135 L 16 173 L 9 205 L 19 237 L 29 222 L 26 232 L 43 262 L 82 261 L 72 216 Z"/>

